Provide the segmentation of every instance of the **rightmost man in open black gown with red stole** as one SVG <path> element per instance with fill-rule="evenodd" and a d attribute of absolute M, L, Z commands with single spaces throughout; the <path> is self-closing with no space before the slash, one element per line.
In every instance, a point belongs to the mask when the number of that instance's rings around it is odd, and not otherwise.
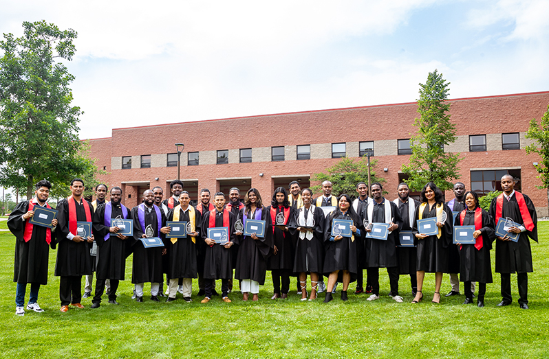
<path fill-rule="evenodd" d="M 519 227 L 510 227 L 508 231 L 520 235 L 518 242 L 498 236 L 495 243 L 495 271 L 502 276 L 502 301 L 498 305 L 513 303 L 511 273 L 517 273 L 519 305 L 528 309 L 528 273 L 534 271 L 528 238 L 537 242 L 537 213 L 530 197 L 515 192 L 515 178 L 510 174 L 502 176 L 502 189 L 504 193 L 492 200 L 490 214 L 496 226 L 499 218 L 512 219 Z"/>

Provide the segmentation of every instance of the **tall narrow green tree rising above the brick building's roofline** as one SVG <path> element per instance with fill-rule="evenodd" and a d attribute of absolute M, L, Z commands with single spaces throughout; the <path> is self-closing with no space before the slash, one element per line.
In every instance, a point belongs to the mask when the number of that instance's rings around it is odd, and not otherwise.
<path fill-rule="evenodd" d="M 445 153 L 444 146 L 455 141 L 455 125 L 450 121 L 448 100 L 449 82 L 437 70 L 430 72 L 427 82 L 420 84 L 418 113 L 413 126 L 418 129 L 410 139 L 412 154 L 408 164 L 402 165 L 405 180 L 413 191 L 433 182 L 442 191 L 451 189 L 451 180 L 460 178 L 459 153 Z"/>

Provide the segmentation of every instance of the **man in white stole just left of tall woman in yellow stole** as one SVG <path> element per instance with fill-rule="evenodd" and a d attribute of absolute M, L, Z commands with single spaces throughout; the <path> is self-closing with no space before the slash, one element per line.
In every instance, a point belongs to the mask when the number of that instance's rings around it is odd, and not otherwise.
<path fill-rule="evenodd" d="M 397 205 L 400 217 L 402 217 L 402 227 L 400 231 L 411 231 L 413 227 L 413 216 L 416 213 L 416 208 L 420 206 L 420 202 L 409 196 L 410 189 L 407 183 L 398 185 L 398 198 L 393 203 Z M 399 233 L 400 236 L 400 233 Z M 414 237 L 415 246 L 398 246 L 396 247 L 396 258 L 398 262 L 398 275 L 409 275 L 412 295 L 415 297 L 418 291 L 418 277 L 416 276 L 416 268 L 418 263 L 418 240 Z"/>

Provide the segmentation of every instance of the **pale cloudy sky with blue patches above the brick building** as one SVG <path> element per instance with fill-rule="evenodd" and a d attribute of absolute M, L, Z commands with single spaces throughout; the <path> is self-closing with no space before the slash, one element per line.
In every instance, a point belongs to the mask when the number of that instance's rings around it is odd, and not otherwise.
<path fill-rule="evenodd" d="M 549 1 L 13 1 L 78 32 L 80 138 L 112 128 L 549 90 Z"/>

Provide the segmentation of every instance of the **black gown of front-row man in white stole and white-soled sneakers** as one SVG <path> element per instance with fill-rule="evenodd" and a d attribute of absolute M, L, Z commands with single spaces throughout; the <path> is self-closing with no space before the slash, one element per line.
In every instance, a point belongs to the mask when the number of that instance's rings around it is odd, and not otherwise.
<path fill-rule="evenodd" d="M 393 216 L 393 223 L 398 225 L 398 228 L 389 235 L 387 240 L 370 239 L 366 247 L 366 264 L 368 268 L 390 268 L 398 265 L 396 259 L 396 244 L 398 242 L 398 233 L 402 226 L 402 218 L 398 207 L 385 198 L 385 202 L 389 202 L 391 205 L 391 214 Z M 367 218 L 368 207 L 363 208 L 363 217 L 371 223 L 385 223 L 385 205 L 375 205 L 372 212 L 372 218 Z M 390 219 L 390 218 L 389 218 Z"/>

